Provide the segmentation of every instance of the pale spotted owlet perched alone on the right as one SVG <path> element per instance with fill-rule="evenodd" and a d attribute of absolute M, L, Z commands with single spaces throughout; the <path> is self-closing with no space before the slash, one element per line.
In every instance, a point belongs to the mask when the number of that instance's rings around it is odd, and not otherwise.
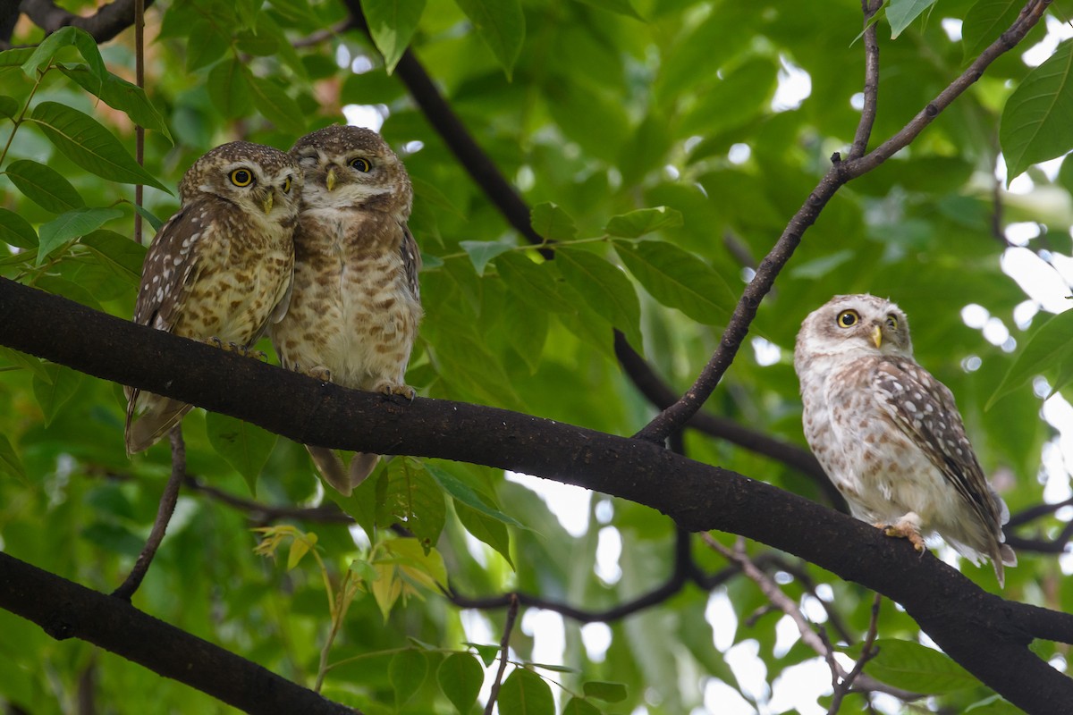
<path fill-rule="evenodd" d="M 805 437 L 850 511 L 924 551 L 938 533 L 990 558 L 999 585 L 1010 519 L 976 461 L 953 393 L 913 359 L 909 323 L 888 300 L 835 296 L 802 323 L 794 351 Z"/>

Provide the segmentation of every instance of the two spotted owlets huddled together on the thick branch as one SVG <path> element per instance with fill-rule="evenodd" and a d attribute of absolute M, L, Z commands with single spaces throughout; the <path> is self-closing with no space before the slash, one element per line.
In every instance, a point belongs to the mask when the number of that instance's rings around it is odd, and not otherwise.
<path fill-rule="evenodd" d="M 146 255 L 134 322 L 247 353 L 267 330 L 284 368 L 403 394 L 421 321 L 421 254 L 407 227 L 413 190 L 379 134 L 334 125 L 290 152 L 233 141 L 179 183 L 181 206 Z M 128 452 L 150 447 L 191 405 L 128 389 Z M 349 467 L 309 447 L 349 494 L 376 455 Z"/>

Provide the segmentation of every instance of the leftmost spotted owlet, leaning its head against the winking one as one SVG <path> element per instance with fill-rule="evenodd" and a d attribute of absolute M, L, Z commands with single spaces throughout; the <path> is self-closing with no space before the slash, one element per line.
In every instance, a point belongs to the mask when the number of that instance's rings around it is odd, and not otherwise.
<path fill-rule="evenodd" d="M 134 322 L 245 353 L 286 311 L 300 190 L 297 162 L 270 147 L 233 141 L 194 162 L 146 255 Z M 132 388 L 127 399 L 129 453 L 191 407 Z"/>

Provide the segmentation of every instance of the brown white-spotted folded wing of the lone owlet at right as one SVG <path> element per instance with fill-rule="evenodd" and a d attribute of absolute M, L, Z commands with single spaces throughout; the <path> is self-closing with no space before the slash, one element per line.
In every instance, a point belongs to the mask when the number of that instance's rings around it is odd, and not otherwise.
<path fill-rule="evenodd" d="M 954 394 L 926 370 L 905 359 L 884 359 L 873 373 L 877 400 L 893 422 L 921 447 L 928 460 L 970 505 L 988 530 L 1004 515 L 991 496 L 980 462 L 965 434 Z"/>

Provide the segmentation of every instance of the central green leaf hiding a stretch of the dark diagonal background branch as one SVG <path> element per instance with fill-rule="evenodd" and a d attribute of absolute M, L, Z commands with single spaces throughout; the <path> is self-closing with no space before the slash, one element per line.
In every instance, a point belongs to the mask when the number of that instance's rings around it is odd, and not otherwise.
<path fill-rule="evenodd" d="M 638 348 L 641 301 L 633 283 L 617 266 L 600 256 L 577 249 L 556 249 L 555 265 L 571 287 L 580 294 L 589 308 L 607 318 Z"/>

